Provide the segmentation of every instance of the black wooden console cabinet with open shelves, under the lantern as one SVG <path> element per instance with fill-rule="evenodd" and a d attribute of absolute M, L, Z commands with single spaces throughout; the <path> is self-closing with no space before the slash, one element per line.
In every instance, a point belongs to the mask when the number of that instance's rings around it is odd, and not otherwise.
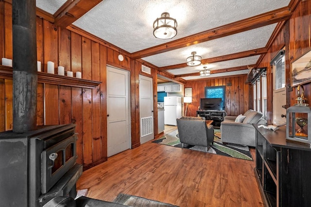
<path fill-rule="evenodd" d="M 256 168 L 262 200 L 269 207 L 311 206 L 311 147 L 286 141 L 286 127 L 256 128 Z"/>

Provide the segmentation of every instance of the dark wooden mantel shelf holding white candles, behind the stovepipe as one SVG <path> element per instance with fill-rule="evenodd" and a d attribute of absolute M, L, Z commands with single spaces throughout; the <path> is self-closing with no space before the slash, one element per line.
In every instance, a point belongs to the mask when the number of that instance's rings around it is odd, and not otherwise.
<path fill-rule="evenodd" d="M 13 79 L 12 67 L 0 65 L 0 78 L 12 80 Z M 54 85 L 90 88 L 90 89 L 94 89 L 99 84 L 102 83 L 101 81 L 79 79 L 79 78 L 55 75 L 55 74 L 50 74 L 50 73 L 45 73 L 45 72 L 38 72 L 38 82 L 54 84 Z"/>

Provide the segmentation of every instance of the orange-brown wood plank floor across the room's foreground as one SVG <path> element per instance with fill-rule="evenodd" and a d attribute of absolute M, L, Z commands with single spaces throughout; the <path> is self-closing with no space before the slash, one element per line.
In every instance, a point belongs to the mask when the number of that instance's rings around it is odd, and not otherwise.
<path fill-rule="evenodd" d="M 105 201 L 125 193 L 180 207 L 262 207 L 254 167 L 255 161 L 148 142 L 83 172 L 77 189 Z"/>

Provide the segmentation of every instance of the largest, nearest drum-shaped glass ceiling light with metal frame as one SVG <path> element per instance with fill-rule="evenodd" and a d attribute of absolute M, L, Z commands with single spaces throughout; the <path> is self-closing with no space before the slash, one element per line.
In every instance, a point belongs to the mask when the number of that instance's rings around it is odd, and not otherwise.
<path fill-rule="evenodd" d="M 168 12 L 154 21 L 154 35 L 159 39 L 171 39 L 177 34 L 177 21 Z"/>

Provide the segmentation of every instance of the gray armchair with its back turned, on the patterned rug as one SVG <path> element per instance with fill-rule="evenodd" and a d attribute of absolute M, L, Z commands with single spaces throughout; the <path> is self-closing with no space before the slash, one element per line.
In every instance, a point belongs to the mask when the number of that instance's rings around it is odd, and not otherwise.
<path fill-rule="evenodd" d="M 201 117 L 182 117 L 177 119 L 177 128 L 181 147 L 184 144 L 208 147 L 214 140 L 214 127 L 206 125 L 205 119 Z"/>

